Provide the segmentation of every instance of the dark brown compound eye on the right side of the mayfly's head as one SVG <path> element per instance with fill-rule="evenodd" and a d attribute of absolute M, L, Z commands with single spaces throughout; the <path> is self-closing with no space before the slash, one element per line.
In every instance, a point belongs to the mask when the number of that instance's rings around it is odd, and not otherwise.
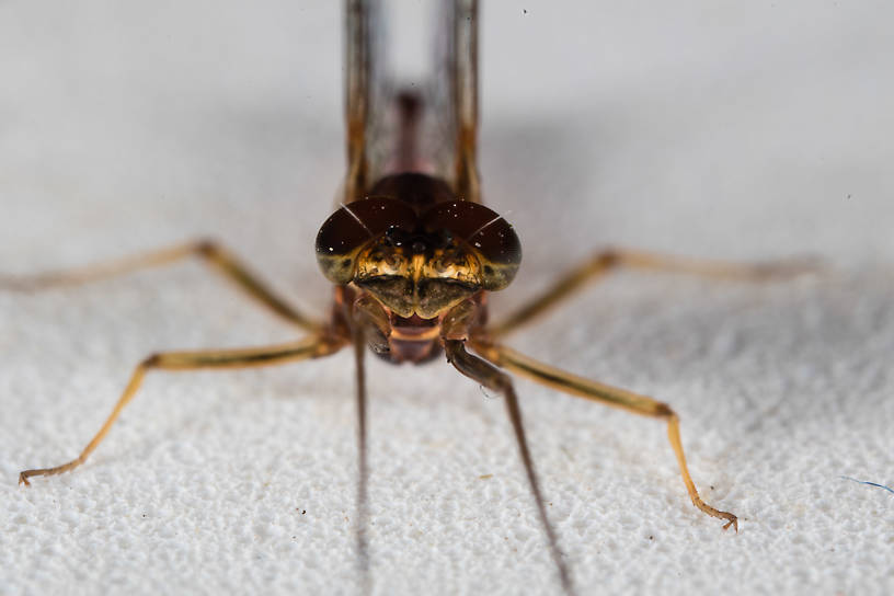
<path fill-rule="evenodd" d="M 475 251 L 481 260 L 484 289 L 505 288 L 518 272 L 522 263 L 518 236 L 508 221 L 484 205 L 466 200 L 439 203 L 425 214 L 423 226 L 428 232 L 446 230 Z"/>

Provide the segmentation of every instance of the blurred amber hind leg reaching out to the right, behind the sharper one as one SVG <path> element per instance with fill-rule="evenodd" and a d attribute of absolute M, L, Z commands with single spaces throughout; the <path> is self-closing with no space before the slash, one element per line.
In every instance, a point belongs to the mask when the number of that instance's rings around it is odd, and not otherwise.
<path fill-rule="evenodd" d="M 500 337 L 517 330 L 572 296 L 583 288 L 586 283 L 598 279 L 619 268 L 683 273 L 718 279 L 760 282 L 816 272 L 822 268 L 822 265 L 809 259 L 749 264 L 684 259 L 628 250 L 605 250 L 597 252 L 582 265 L 565 273 L 541 295 L 491 326 L 488 330 L 489 335 Z"/>

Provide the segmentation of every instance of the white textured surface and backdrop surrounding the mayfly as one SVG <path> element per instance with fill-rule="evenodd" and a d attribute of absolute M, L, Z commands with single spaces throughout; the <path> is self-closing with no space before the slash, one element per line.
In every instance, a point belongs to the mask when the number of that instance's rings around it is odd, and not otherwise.
<path fill-rule="evenodd" d="M 331 4 L 0 3 L 0 271 L 213 234 L 323 312 Z M 841 477 L 894 484 L 894 11 L 559 4 L 483 13 L 485 193 L 525 247 L 495 310 L 605 244 L 837 267 L 621 274 L 513 339 L 674 405 L 706 500 L 741 516 L 689 504 L 661 423 L 519 381 L 581 592 L 890 593 L 894 494 Z M 356 588 L 347 353 L 151 375 L 85 466 L 25 490 L 148 353 L 293 335 L 193 263 L 0 294 L 0 594 Z M 557 593 L 502 402 L 440 362 L 370 367 L 376 592 Z"/>

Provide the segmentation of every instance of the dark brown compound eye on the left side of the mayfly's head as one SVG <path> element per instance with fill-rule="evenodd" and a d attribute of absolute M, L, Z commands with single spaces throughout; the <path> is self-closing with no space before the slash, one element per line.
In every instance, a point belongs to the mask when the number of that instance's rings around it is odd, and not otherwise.
<path fill-rule="evenodd" d="M 412 207 L 387 197 L 370 197 L 342 206 L 317 233 L 317 262 L 323 275 L 335 284 L 354 276 L 357 253 L 385 233 L 412 231 L 416 215 Z M 399 234 L 398 234 L 399 236 Z"/>

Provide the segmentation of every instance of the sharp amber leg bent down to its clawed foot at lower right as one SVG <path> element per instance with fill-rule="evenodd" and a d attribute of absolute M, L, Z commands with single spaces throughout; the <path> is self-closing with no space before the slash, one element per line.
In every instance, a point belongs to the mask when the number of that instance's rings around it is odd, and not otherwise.
<path fill-rule="evenodd" d="M 471 345 L 477 352 L 481 353 L 497 366 L 502 366 L 513 373 L 517 373 L 539 383 L 558 389 L 559 391 L 615 408 L 621 408 L 634 414 L 654 416 L 667 421 L 667 438 L 671 440 L 671 447 L 674 448 L 674 454 L 677 456 L 677 463 L 679 465 L 680 474 L 683 475 L 683 482 L 686 484 L 686 490 L 689 492 L 689 498 L 692 500 L 692 504 L 712 517 L 726 519 L 727 522 L 726 525 L 723 526 L 723 529 L 733 526 L 733 528 L 738 531 L 738 522 L 735 515 L 715 509 L 704 503 L 699 496 L 696 484 L 692 482 L 692 477 L 689 475 L 689 468 L 686 466 L 686 456 L 683 452 L 683 444 L 680 443 L 679 436 L 679 419 L 667 404 L 646 398 L 645 396 L 633 393 L 632 391 L 627 391 L 626 389 L 618 389 L 617 387 L 577 377 L 564 370 L 539 363 L 506 346 L 485 342 L 472 342 Z"/>

